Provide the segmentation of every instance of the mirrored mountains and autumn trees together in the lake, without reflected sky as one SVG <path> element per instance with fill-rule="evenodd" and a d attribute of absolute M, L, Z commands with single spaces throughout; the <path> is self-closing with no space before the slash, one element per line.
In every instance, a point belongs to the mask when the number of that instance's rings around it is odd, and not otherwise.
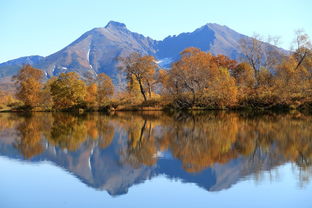
<path fill-rule="evenodd" d="M 1 155 L 52 161 L 111 195 L 158 175 L 219 191 L 288 161 L 308 166 L 312 155 L 305 116 L 6 114 L 0 122 Z"/>

